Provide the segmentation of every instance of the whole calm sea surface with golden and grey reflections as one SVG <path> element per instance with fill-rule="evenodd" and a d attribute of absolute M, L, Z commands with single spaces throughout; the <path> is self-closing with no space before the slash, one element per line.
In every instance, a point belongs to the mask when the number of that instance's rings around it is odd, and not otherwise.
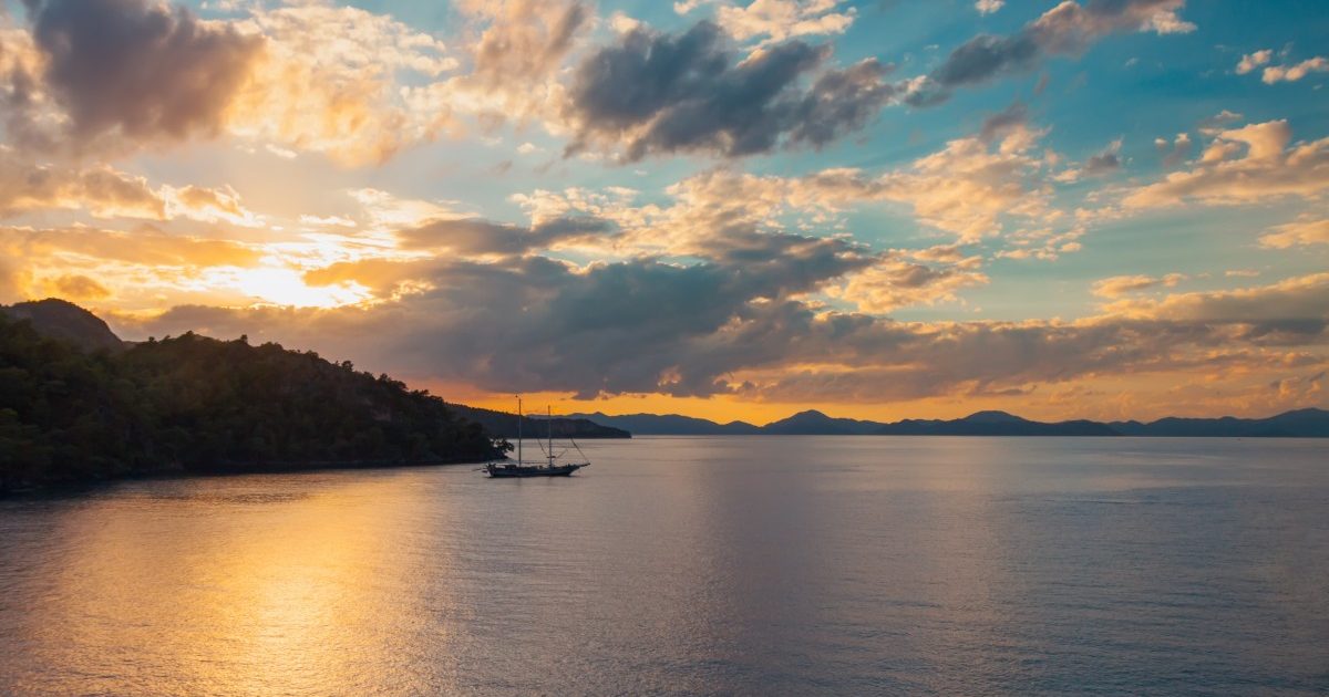
<path fill-rule="evenodd" d="M 0 502 L 0 693 L 1324 693 L 1326 445 L 638 438 Z"/>

